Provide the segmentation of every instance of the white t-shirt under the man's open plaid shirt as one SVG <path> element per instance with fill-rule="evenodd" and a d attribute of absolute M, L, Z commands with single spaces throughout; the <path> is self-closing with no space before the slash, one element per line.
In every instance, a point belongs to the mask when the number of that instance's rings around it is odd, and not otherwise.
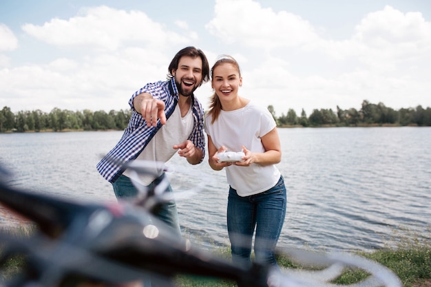
<path fill-rule="evenodd" d="M 150 140 L 147 147 L 139 154 L 137 160 L 146 160 L 148 164 L 154 163 L 154 172 L 158 173 L 158 176 L 162 175 L 162 171 L 156 167 L 160 167 L 160 162 L 167 162 L 177 152 L 173 148 L 174 145 L 178 145 L 187 138 L 193 131 L 193 115 L 191 109 L 187 111 L 185 117 L 181 117 L 180 107 L 176 105 L 174 113 L 166 121 L 156 133 L 154 138 Z M 124 176 L 136 179 L 132 176 L 132 172 L 126 169 L 123 172 Z M 154 177 L 139 175 L 139 182 L 143 185 L 148 185 L 153 182 Z"/>

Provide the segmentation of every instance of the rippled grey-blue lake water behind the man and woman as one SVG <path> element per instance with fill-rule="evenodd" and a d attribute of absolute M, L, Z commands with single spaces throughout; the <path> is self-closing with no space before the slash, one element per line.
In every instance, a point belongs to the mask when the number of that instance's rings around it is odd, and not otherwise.
<path fill-rule="evenodd" d="M 0 162 L 14 187 L 82 202 L 115 200 L 96 171 L 122 131 L 0 134 Z M 278 246 L 372 251 L 403 237 L 430 235 L 431 128 L 279 129 L 288 191 Z M 168 162 L 180 224 L 196 243 L 229 244 L 228 185 L 205 158 Z M 186 194 L 186 193 L 185 193 Z M 8 211 L 0 224 L 17 222 Z M 428 237 L 428 240 L 430 238 Z"/>

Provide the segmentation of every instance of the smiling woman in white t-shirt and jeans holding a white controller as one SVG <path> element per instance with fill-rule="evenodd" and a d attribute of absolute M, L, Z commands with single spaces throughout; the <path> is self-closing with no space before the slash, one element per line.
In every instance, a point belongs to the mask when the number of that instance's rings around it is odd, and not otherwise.
<path fill-rule="evenodd" d="M 221 56 L 211 69 L 214 94 L 205 116 L 209 165 L 226 170 L 229 183 L 227 228 L 236 264 L 255 260 L 277 266 L 274 249 L 286 213 L 286 187 L 275 164 L 282 158 L 273 116 L 238 95 L 242 76 L 238 62 Z M 243 151 L 238 162 L 220 162 L 218 153 Z"/>

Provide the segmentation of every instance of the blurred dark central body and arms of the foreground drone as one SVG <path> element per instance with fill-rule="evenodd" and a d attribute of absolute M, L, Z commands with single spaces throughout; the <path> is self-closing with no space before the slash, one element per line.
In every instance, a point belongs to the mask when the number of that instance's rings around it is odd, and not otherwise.
<path fill-rule="evenodd" d="M 163 222 L 129 204 L 78 204 L 5 186 L 0 189 L 4 205 L 35 222 L 45 235 L 83 251 L 169 277 L 193 274 L 264 286 L 257 284 L 258 268 L 233 266 L 172 237 Z"/>

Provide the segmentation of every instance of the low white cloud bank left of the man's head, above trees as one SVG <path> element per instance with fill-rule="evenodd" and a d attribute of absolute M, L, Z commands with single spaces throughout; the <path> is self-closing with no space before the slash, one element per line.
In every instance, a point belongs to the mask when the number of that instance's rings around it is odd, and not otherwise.
<path fill-rule="evenodd" d="M 129 48 L 82 61 L 61 58 L 46 65 L 3 69 L 0 87 L 5 96 L 0 105 L 18 101 L 20 107 L 47 111 L 54 107 L 127 109 L 127 100 L 136 89 L 165 78 L 169 61 L 162 52 Z"/>

